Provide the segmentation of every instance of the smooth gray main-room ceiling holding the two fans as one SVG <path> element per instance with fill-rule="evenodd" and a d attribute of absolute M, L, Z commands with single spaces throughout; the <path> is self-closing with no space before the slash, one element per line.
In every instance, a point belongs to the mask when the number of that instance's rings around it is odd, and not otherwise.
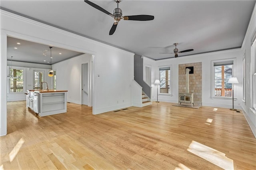
<path fill-rule="evenodd" d="M 92 2 L 110 13 L 116 8 L 114 0 Z M 83 0 L 1 0 L 0 6 L 2 10 L 158 60 L 174 57 L 174 54 L 160 52 L 172 53 L 176 42 L 179 51 L 194 49 L 179 53 L 179 57 L 241 47 L 255 2 L 122 0 L 119 8 L 123 16 L 148 14 L 153 15 L 154 20 L 121 20 L 112 36 L 109 36 L 109 31 L 114 19 Z M 9 45 L 9 53 L 14 53 Z M 47 47 L 44 45 L 38 49 L 39 55 Z M 23 57 L 19 60 L 22 61 Z"/>

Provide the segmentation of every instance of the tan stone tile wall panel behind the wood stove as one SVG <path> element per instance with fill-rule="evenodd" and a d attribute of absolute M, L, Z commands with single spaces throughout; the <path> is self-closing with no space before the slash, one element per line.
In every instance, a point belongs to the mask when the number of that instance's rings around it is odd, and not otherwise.
<path fill-rule="evenodd" d="M 202 62 L 179 64 L 179 93 L 186 92 L 186 67 L 194 67 L 189 74 L 189 93 L 194 93 L 194 105 L 202 105 Z"/>

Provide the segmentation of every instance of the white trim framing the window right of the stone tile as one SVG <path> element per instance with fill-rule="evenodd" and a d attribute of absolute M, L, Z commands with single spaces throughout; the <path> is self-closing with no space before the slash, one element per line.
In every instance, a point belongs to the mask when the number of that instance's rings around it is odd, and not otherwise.
<path fill-rule="evenodd" d="M 215 96 L 214 95 L 214 78 L 215 78 L 215 71 L 214 71 L 214 63 L 221 62 L 221 61 L 230 61 L 233 60 L 233 67 L 232 67 L 232 76 L 236 77 L 236 58 L 229 58 L 229 59 L 220 59 L 220 60 L 212 60 L 211 61 L 211 99 L 230 99 L 232 100 L 232 97 L 224 97 L 224 96 Z M 237 100 L 236 97 L 236 85 L 234 85 L 234 101 Z"/>

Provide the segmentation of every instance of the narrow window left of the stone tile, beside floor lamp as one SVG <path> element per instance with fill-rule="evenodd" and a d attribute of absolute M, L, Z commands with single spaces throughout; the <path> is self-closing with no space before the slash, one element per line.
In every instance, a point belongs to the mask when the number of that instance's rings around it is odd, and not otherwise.
<path fill-rule="evenodd" d="M 171 94 L 171 67 L 159 67 L 160 94 Z"/>

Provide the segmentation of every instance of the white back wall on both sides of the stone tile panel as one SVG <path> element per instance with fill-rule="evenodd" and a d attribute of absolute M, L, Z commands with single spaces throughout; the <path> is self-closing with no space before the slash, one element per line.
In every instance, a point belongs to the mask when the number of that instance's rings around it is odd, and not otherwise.
<path fill-rule="evenodd" d="M 156 61 L 154 70 L 154 79 L 159 78 L 158 67 L 164 65 L 172 65 L 172 95 L 158 95 L 158 101 L 178 103 L 178 65 L 185 63 L 196 63 L 202 62 L 202 105 L 212 106 L 212 107 L 226 107 L 232 108 L 232 98 L 231 99 L 212 99 L 211 98 L 211 61 L 220 59 L 232 59 L 236 58 L 236 67 L 233 72 L 234 77 L 238 78 L 239 82 L 242 82 L 242 50 L 233 49 L 226 51 L 218 51 L 213 53 L 204 53 L 198 55 L 189 55 L 184 57 L 177 57 L 171 59 L 164 59 Z M 156 93 L 156 86 L 152 86 L 153 93 Z M 155 96 L 155 95 L 154 95 Z M 234 101 L 234 108 L 240 109 L 242 100 L 242 83 L 239 83 L 234 87 L 234 97 L 237 100 Z M 156 100 L 156 97 L 154 97 Z"/>

